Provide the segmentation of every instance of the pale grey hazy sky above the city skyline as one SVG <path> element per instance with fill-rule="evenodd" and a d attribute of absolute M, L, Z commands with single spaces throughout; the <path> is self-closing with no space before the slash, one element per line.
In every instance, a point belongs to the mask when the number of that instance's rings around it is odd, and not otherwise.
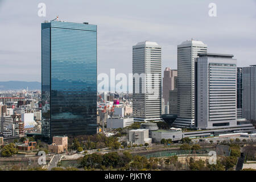
<path fill-rule="evenodd" d="M 46 4 L 46 17 L 38 4 Z M 216 3 L 217 17 L 208 15 Z M 59 15 L 98 26 L 98 74 L 132 72 L 132 46 L 162 46 L 162 69 L 177 68 L 177 44 L 201 40 L 208 52 L 230 53 L 238 67 L 256 64 L 256 1 L 0 0 L 0 81 L 41 81 L 41 23 Z"/>

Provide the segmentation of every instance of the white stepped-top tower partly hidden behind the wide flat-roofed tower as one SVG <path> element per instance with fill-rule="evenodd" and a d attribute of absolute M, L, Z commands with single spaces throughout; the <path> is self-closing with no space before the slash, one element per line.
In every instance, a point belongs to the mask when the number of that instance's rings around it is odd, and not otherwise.
<path fill-rule="evenodd" d="M 173 125 L 195 126 L 195 59 L 207 52 L 201 41 L 185 41 L 177 46 L 177 115 Z"/>

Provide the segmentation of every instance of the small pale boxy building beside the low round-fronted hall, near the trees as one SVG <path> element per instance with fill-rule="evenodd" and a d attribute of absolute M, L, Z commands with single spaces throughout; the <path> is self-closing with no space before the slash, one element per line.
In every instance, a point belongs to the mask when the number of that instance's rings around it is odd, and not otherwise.
<path fill-rule="evenodd" d="M 129 131 L 129 142 L 134 144 L 151 144 L 152 139 L 148 137 L 148 129 L 137 129 Z"/>

